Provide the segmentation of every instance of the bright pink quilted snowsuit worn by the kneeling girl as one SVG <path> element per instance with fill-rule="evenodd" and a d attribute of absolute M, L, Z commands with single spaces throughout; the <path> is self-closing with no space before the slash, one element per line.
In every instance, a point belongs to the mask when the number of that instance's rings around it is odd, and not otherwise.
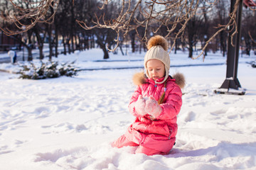
<path fill-rule="evenodd" d="M 164 78 L 158 79 L 161 82 Z M 135 102 L 139 95 L 153 96 L 156 101 L 164 93 L 164 84 L 155 84 L 153 79 L 147 79 L 146 84 L 137 86 L 129 103 L 129 111 L 136 117 L 127 132 L 113 142 L 113 147 L 137 146 L 136 153 L 169 154 L 174 146 L 177 133 L 176 120 L 182 105 L 182 92 L 175 83 L 175 79 L 168 77 L 166 80 L 166 94 L 164 103 L 160 104 L 163 111 L 151 120 L 149 115 L 139 115 L 135 110 Z"/>

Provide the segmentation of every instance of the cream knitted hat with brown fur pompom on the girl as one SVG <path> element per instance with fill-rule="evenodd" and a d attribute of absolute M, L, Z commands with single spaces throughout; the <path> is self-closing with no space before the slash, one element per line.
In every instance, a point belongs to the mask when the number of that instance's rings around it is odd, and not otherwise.
<path fill-rule="evenodd" d="M 144 67 L 146 69 L 146 77 L 149 78 L 149 73 L 146 68 L 146 62 L 152 59 L 160 60 L 164 63 L 165 67 L 165 77 L 161 82 L 156 82 L 156 84 L 162 84 L 169 77 L 169 69 L 170 69 L 170 57 L 167 52 L 168 50 L 168 42 L 161 35 L 155 35 L 149 39 L 147 44 L 148 51 L 144 57 Z"/>

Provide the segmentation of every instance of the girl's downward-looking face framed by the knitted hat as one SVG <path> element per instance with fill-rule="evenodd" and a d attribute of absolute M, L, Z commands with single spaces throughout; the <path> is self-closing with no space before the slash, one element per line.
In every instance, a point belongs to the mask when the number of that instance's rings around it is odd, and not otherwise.
<path fill-rule="evenodd" d="M 165 76 L 164 63 L 160 60 L 151 59 L 146 62 L 146 68 L 151 79 L 160 79 Z"/>

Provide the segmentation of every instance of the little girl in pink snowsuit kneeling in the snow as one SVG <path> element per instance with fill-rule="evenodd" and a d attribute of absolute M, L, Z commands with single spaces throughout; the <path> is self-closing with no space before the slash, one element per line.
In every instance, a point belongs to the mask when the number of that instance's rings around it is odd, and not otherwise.
<path fill-rule="evenodd" d="M 134 75 L 137 89 L 129 103 L 136 117 L 127 132 L 113 142 L 113 147 L 137 147 L 135 153 L 169 154 L 177 133 L 176 120 L 182 105 L 183 74 L 169 76 L 168 42 L 155 35 L 149 39 L 143 73 Z M 178 85 L 177 85 L 178 84 Z"/>

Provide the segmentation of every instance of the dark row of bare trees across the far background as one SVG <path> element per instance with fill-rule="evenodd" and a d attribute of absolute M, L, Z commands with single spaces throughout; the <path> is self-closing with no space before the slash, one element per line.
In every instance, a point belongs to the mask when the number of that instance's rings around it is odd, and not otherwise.
<path fill-rule="evenodd" d="M 19 1 L 19 0 L 17 0 Z M 34 0 L 20 1 L 22 8 L 28 8 L 30 3 Z M 201 5 L 205 1 L 201 1 Z M 133 1 L 132 5 L 135 5 L 136 1 Z M 48 43 L 49 48 L 49 60 L 52 57 L 58 57 L 60 45 L 62 46 L 62 52 L 64 55 L 67 53 L 75 52 L 75 50 L 89 50 L 90 48 L 100 47 L 104 52 L 104 59 L 109 58 L 109 49 L 114 48 L 116 45 L 117 33 L 110 28 L 92 28 L 91 30 L 85 30 L 82 28 L 77 21 L 84 21 L 87 26 L 94 26 L 92 21 L 95 21 L 95 13 L 97 16 L 102 14 L 105 21 L 111 21 L 119 15 L 119 11 L 122 8 L 121 1 L 111 1 L 105 8 L 100 10 L 102 1 L 100 0 L 60 0 L 58 10 L 55 13 L 53 23 L 36 23 L 36 26 L 28 30 L 26 33 L 20 35 L 11 35 L 19 42 L 20 48 L 25 47 L 28 51 L 28 60 L 33 60 L 32 50 L 38 48 L 40 52 L 40 59 L 43 59 L 43 45 Z M 15 11 L 14 6 L 11 5 L 10 1 L 0 0 L 0 11 Z M 256 16 L 255 11 L 249 8 L 242 9 L 242 32 L 240 46 L 247 55 L 250 55 L 250 50 L 255 50 L 255 39 L 256 39 Z M 201 14 L 193 16 L 188 21 L 186 30 L 182 38 L 177 38 L 174 52 L 176 50 L 188 49 L 188 57 L 193 56 L 195 50 L 200 50 L 206 41 L 213 35 L 218 26 L 225 25 L 228 22 L 228 14 L 230 11 L 230 1 L 220 0 L 218 4 L 213 8 L 203 8 Z M 104 15 L 103 15 L 104 13 Z M 46 18 L 53 14 L 53 10 L 49 10 L 46 13 Z M 134 18 L 143 18 L 141 13 L 135 13 Z M 23 18 L 23 23 L 30 23 L 30 19 Z M 16 29 L 16 26 L 11 21 L 0 21 L 1 28 L 9 28 L 12 30 Z M 180 26 L 176 27 L 176 30 L 172 33 L 175 36 L 178 33 Z M 154 30 L 159 25 L 152 23 L 146 30 L 149 32 L 149 36 L 154 35 Z M 157 34 L 167 35 L 166 26 L 162 26 Z M 141 42 L 145 32 L 144 27 L 138 27 L 137 30 L 131 30 L 126 36 L 119 37 L 119 48 L 122 55 L 126 55 L 126 48 L 131 47 L 132 52 L 142 52 L 146 50 L 144 42 Z M 1 34 L 3 35 L 3 33 Z M 174 43 L 171 38 L 168 39 L 170 47 Z M 223 53 L 223 57 L 227 52 L 228 44 L 228 32 L 222 31 L 216 36 L 208 45 L 205 55 L 210 50 L 216 52 L 220 50 Z M 199 49 L 198 49 L 199 48 Z"/>

